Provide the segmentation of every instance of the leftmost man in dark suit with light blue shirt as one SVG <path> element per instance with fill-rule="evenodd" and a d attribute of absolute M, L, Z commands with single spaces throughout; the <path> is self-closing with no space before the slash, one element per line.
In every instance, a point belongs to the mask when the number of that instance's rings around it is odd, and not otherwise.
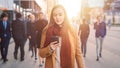
<path fill-rule="evenodd" d="M 11 38 L 10 22 L 8 22 L 8 14 L 2 13 L 0 21 L 0 47 L 3 63 L 7 62 L 7 54 L 9 48 L 9 42 Z"/>

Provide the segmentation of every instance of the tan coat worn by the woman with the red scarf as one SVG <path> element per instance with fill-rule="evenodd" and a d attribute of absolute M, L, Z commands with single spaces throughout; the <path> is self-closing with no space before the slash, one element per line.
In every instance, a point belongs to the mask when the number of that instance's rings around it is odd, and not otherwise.
<path fill-rule="evenodd" d="M 43 48 L 45 38 L 46 38 L 46 32 L 47 32 L 47 27 L 43 30 L 43 33 L 42 33 L 39 55 L 43 58 L 46 58 L 45 68 L 55 68 L 55 62 L 56 62 L 55 52 L 52 52 L 49 46 Z M 82 57 L 82 52 L 81 52 L 80 45 L 78 42 L 79 40 L 77 40 L 78 39 L 77 34 L 75 34 L 75 32 L 70 32 L 70 31 L 68 33 L 70 37 L 70 42 L 72 44 L 71 46 L 72 67 L 71 68 L 75 68 L 75 61 L 77 62 L 78 68 L 85 68 L 83 57 Z"/>

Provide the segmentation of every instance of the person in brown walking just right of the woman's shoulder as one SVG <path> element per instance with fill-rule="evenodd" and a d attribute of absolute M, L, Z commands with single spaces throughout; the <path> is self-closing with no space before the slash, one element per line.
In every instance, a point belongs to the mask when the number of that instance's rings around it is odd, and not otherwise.
<path fill-rule="evenodd" d="M 89 24 L 87 23 L 86 19 L 83 19 L 82 24 L 80 24 L 80 27 L 79 27 L 78 35 L 80 36 L 81 50 L 84 57 L 86 56 L 86 52 L 87 52 L 87 39 L 88 39 L 89 33 L 90 33 Z"/>

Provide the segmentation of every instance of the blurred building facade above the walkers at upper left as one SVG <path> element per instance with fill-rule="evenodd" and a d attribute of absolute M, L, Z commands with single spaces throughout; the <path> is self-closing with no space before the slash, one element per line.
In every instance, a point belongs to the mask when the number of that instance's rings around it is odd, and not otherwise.
<path fill-rule="evenodd" d="M 20 12 L 24 16 L 27 12 L 38 13 L 41 7 L 35 0 L 0 0 L 0 14 L 7 12 L 9 21 L 15 19 L 15 12 Z"/>

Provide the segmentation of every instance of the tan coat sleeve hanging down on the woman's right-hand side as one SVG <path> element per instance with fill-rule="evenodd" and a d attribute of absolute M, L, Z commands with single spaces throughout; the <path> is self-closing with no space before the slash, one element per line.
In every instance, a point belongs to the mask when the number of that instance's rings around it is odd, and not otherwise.
<path fill-rule="evenodd" d="M 75 35 L 75 39 L 76 39 L 76 52 L 75 52 L 75 57 L 76 57 L 76 62 L 78 65 L 78 68 L 85 68 L 85 64 L 83 61 L 83 56 L 82 56 L 82 52 L 81 52 L 81 48 L 80 48 L 80 43 L 79 43 L 79 39 L 78 36 Z"/>

